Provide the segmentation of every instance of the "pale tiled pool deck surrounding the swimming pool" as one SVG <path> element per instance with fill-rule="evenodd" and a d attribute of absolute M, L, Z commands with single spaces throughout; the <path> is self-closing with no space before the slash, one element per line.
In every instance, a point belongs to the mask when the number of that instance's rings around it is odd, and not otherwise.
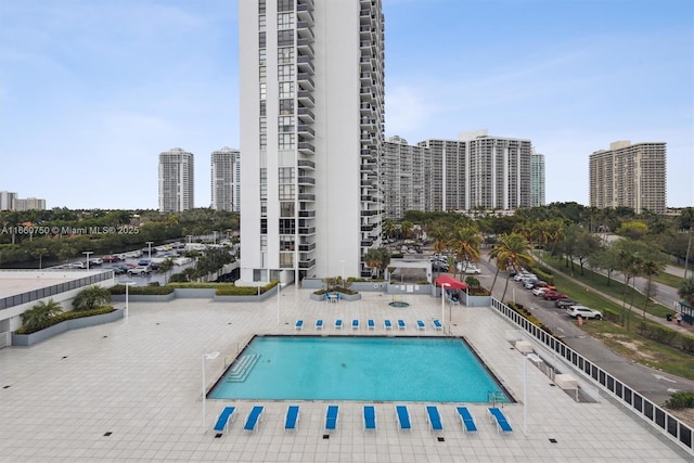
<path fill-rule="evenodd" d="M 337 429 L 324 432 L 326 401 L 299 401 L 294 432 L 284 430 L 288 401 L 262 401 L 255 433 L 243 424 L 255 401 L 207 400 L 203 426 L 202 371 L 210 388 L 254 334 L 441 336 L 432 320 L 441 303 L 406 295 L 362 294 L 337 304 L 309 300 L 290 286 L 260 304 L 176 299 L 131 303 L 126 320 L 70 331 L 29 348 L 0 349 L 0 461 L 11 462 L 681 462 L 692 455 L 601 394 L 576 402 L 509 343 L 511 325 L 489 308 L 455 306 L 452 335 L 464 336 L 517 403 L 505 404 L 512 434 L 499 434 L 487 404 L 467 404 L 478 432 L 465 434 L 453 403 L 437 403 L 444 430 L 433 433 L 425 403 L 408 403 L 412 429 L 398 430 L 394 406 L 375 403 L 377 430 L 364 432 L 364 402 L 339 406 Z M 449 317 L 448 306 L 446 318 Z M 324 327 L 316 331 L 316 319 Z M 342 318 L 342 330 L 334 321 Z M 360 319 L 360 329 L 351 320 Z M 295 330 L 296 320 L 304 327 Z M 376 322 L 368 330 L 367 320 Z M 383 327 L 403 319 L 406 330 Z M 426 323 L 419 330 L 416 320 Z M 448 320 L 445 321 L 449 326 Z M 205 352 L 221 352 L 203 360 Z M 407 359 L 403 359 L 407 361 Z M 236 406 L 236 420 L 219 438 L 211 430 L 220 410 Z M 524 416 L 526 419 L 524 420 Z M 525 425 L 524 425 L 525 422 Z M 525 428 L 525 432 L 524 432 Z M 110 435 L 107 435 L 111 433 Z M 329 438 L 324 438 L 324 435 Z M 439 438 L 444 438 L 440 440 Z M 552 442 L 555 440 L 555 442 Z"/>

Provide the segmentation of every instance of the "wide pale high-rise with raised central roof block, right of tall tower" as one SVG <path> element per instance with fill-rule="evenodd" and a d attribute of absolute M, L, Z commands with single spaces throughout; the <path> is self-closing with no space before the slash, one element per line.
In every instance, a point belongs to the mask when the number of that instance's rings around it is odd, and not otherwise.
<path fill-rule="evenodd" d="M 530 206 L 532 143 L 462 132 L 458 140 L 425 140 L 430 149 L 430 210 L 516 209 Z"/>

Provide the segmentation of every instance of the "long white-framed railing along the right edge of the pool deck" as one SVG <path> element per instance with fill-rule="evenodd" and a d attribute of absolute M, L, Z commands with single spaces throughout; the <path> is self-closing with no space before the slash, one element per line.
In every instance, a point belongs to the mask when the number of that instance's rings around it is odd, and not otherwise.
<path fill-rule="evenodd" d="M 586 380 L 608 393 L 620 404 L 627 407 L 645 422 L 667 436 L 670 440 L 694 454 L 694 429 L 668 413 L 657 403 L 637 393 L 633 387 L 601 369 L 561 339 L 532 324 L 528 319 L 505 304 L 491 298 L 491 307 L 511 323 L 523 330 L 535 342 L 542 344 L 554 353 L 573 364 Z"/>

